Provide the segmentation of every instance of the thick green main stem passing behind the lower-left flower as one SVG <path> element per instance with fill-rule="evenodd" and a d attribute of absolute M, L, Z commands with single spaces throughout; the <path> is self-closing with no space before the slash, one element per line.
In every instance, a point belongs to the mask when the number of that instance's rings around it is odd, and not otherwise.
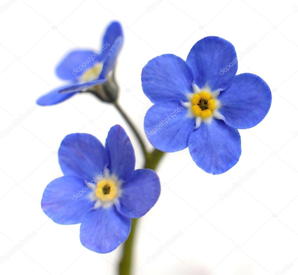
<path fill-rule="evenodd" d="M 144 168 L 155 170 L 164 152 L 154 149 L 147 153 Z M 123 245 L 122 258 L 119 263 L 119 275 L 131 275 L 131 264 L 133 255 L 133 244 L 136 236 L 136 225 L 138 219 L 131 219 L 131 232 Z"/>

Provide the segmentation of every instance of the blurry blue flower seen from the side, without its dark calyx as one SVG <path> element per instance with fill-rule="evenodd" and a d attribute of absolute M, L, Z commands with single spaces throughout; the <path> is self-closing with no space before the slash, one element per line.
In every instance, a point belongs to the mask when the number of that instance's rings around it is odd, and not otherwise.
<path fill-rule="evenodd" d="M 38 98 L 37 104 L 54 105 L 77 92 L 100 87 L 110 77 L 122 44 L 122 28 L 118 22 L 112 22 L 103 36 L 99 50 L 75 50 L 60 62 L 56 73 L 66 84 Z"/>

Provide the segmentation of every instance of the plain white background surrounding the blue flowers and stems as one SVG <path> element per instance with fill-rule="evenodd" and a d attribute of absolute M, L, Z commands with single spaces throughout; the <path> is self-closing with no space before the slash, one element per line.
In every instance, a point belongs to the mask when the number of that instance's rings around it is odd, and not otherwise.
<path fill-rule="evenodd" d="M 256 43 L 239 60 L 238 73 L 252 72 L 268 83 L 268 115 L 256 127 L 240 130 L 242 155 L 227 173 L 205 173 L 188 149 L 164 157 L 159 201 L 138 221 L 134 273 L 297 274 L 296 6 L 298 1 L 16 0 L 0 13 L 0 130 L 62 83 L 54 68 L 69 50 L 97 50 L 112 20 L 121 21 L 125 35 L 117 67 L 119 102 L 144 138 L 144 115 L 152 103 L 142 93 L 140 74 L 151 58 L 174 53 L 186 59 L 193 44 L 208 35 L 230 41 L 238 56 Z M 117 123 L 131 137 L 137 168 L 142 167 L 127 124 L 113 106 L 91 95 L 37 106 L 0 139 L 0 256 L 36 232 L 0 264 L 1 274 L 117 274 L 121 247 L 109 254 L 86 250 L 80 225 L 55 224 L 40 206 L 46 185 L 62 176 L 57 150 L 63 137 L 85 132 L 104 142 Z M 252 169 L 257 172 L 248 177 Z M 242 177 L 248 177 L 242 187 L 220 200 Z M 180 238 L 146 263 L 179 231 Z"/>

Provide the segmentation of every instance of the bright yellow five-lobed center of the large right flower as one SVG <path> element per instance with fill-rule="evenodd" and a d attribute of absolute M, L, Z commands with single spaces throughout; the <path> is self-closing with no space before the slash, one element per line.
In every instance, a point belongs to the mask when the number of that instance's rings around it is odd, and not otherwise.
<path fill-rule="evenodd" d="M 192 103 L 192 110 L 194 115 L 207 118 L 212 115 L 212 111 L 215 110 L 215 100 L 212 99 L 208 92 L 200 92 L 193 95 L 190 102 Z"/>

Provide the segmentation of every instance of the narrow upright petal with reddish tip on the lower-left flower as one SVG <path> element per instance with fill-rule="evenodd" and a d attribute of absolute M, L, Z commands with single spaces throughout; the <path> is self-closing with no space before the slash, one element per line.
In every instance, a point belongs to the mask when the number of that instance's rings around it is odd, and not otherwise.
<path fill-rule="evenodd" d="M 134 173 L 136 157 L 131 140 L 120 125 L 113 126 L 108 132 L 105 148 L 110 160 L 110 174 L 115 174 L 119 180 L 129 180 Z"/>

